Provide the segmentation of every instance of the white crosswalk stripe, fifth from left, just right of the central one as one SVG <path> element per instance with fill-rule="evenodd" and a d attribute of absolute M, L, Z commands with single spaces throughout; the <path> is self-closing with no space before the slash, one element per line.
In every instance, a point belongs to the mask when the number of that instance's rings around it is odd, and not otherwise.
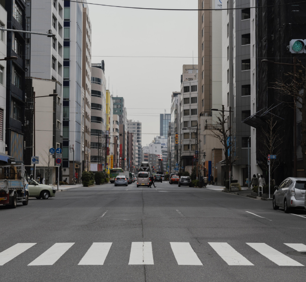
<path fill-rule="evenodd" d="M 190 243 L 170 242 L 178 265 L 203 265 Z"/>

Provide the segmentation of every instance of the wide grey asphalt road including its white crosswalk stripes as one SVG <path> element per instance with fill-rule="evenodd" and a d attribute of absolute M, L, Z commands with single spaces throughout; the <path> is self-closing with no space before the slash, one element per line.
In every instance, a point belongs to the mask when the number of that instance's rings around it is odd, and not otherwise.
<path fill-rule="evenodd" d="M 306 211 L 155 184 L 79 187 L 0 206 L 0 281 L 306 280 Z"/>

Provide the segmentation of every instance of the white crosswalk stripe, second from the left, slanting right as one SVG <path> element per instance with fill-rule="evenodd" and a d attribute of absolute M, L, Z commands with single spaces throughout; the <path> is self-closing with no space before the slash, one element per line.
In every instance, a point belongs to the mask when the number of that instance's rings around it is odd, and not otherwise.
<path fill-rule="evenodd" d="M 53 265 L 74 243 L 55 243 L 28 265 Z"/>

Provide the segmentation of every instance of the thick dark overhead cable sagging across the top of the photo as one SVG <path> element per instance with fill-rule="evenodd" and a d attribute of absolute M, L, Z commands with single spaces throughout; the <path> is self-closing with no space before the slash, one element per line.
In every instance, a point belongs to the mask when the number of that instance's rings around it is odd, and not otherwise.
<path fill-rule="evenodd" d="M 242 10 L 242 9 L 245 9 L 245 7 L 243 7 L 243 8 L 225 8 L 225 9 L 165 9 L 165 8 L 143 8 L 143 7 L 116 6 L 116 5 L 107 5 L 107 4 L 98 4 L 98 3 L 88 3 L 88 2 L 75 1 L 75 0 L 67 0 L 67 1 L 76 2 L 76 3 L 84 3 L 84 4 L 87 4 L 87 5 L 113 7 L 113 8 L 126 8 L 126 9 L 139 9 L 139 10 L 158 10 L 158 11 L 226 11 L 226 10 Z M 284 3 L 284 4 L 250 7 L 250 9 L 269 8 L 269 7 L 276 7 L 276 6 L 300 4 L 300 3 L 305 3 L 305 2 L 306 1 L 298 1 L 298 2 L 293 2 L 293 3 Z"/>

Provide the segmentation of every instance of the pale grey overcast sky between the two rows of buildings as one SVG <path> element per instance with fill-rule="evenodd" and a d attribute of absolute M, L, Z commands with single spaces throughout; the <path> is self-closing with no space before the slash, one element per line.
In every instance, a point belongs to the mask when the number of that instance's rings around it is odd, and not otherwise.
<path fill-rule="evenodd" d="M 87 0 L 150 8 L 197 9 L 197 0 Z M 197 11 L 156 11 L 89 4 L 91 62 L 105 61 L 114 96 L 124 97 L 128 119 L 142 122 L 142 145 L 159 135 L 159 114 L 170 113 L 171 94 L 180 91 L 183 64 L 197 64 Z M 119 58 L 176 56 L 190 58 Z M 150 133 L 150 134 L 148 134 Z M 152 134 L 153 133 L 153 134 Z"/>

